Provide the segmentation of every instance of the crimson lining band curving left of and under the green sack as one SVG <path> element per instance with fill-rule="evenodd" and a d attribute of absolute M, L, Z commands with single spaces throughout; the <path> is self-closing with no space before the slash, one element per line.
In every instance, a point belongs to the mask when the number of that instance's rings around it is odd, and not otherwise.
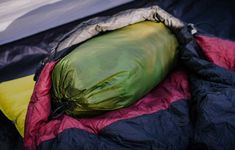
<path fill-rule="evenodd" d="M 130 107 L 110 111 L 103 115 L 91 118 L 78 119 L 63 115 L 50 120 L 49 116 L 51 110 L 44 108 L 50 108 L 51 106 L 51 72 L 55 64 L 56 62 L 46 64 L 35 86 L 26 119 L 24 142 L 27 149 L 36 149 L 40 143 L 54 139 L 59 134 L 63 134 L 63 132 L 69 131 L 69 129 L 72 128 L 78 128 L 99 135 L 103 128 L 115 124 L 115 122 L 118 123 L 121 120 L 136 117 L 141 118 L 144 115 L 153 113 L 157 114 L 161 110 L 168 109 L 171 107 L 170 105 L 172 103 L 177 102 L 178 100 L 191 98 L 187 73 L 183 70 L 177 70 L 173 71 L 166 80 L 148 93 L 143 99 Z M 185 111 L 187 111 L 187 108 Z M 174 113 L 178 115 L 178 111 L 175 111 Z M 149 125 L 151 126 L 151 124 Z M 181 126 L 181 124 L 179 124 L 179 126 Z M 125 131 L 125 129 L 123 130 Z M 63 146 L 63 143 L 61 144 Z M 89 145 L 90 143 L 88 142 L 87 146 L 89 147 Z"/>

